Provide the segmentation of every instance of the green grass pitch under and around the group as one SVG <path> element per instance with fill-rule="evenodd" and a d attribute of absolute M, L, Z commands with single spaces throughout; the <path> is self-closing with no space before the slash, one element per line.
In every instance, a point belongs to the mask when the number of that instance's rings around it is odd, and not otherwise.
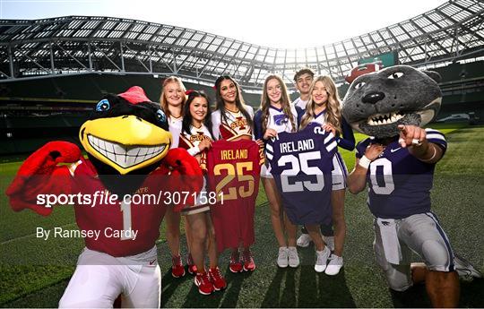
<path fill-rule="evenodd" d="M 436 127 L 436 126 L 433 126 Z M 438 125 L 447 134 L 449 149 L 437 164 L 432 209 L 439 216 L 456 253 L 484 270 L 483 206 L 484 127 L 458 124 Z M 362 139 L 357 135 L 357 139 Z M 341 151 L 351 169 L 354 153 Z M 21 162 L 0 164 L 0 306 L 56 307 L 77 256 L 79 239 L 43 241 L 35 238 L 36 227 L 76 228 L 73 210 L 58 208 L 48 218 L 25 210 L 14 213 L 4 196 L 6 186 Z M 254 273 L 232 274 L 228 253 L 220 256 L 222 272 L 229 287 L 212 296 L 201 296 L 193 278 L 171 278 L 170 258 L 164 241 L 164 225 L 158 242 L 163 273 L 163 307 L 428 307 L 423 286 L 404 293 L 392 293 L 376 266 L 372 252 L 372 216 L 366 193 L 347 193 L 345 215 L 347 241 L 344 268 L 335 277 L 316 274 L 314 247 L 298 249 L 301 266 L 280 270 L 275 264 L 277 243 L 272 233 L 264 189 L 257 199 L 256 243 L 253 247 L 257 269 Z M 185 252 L 186 245 L 182 245 Z M 416 260 L 417 261 L 417 260 Z M 463 307 L 484 306 L 482 279 L 461 283 Z"/>

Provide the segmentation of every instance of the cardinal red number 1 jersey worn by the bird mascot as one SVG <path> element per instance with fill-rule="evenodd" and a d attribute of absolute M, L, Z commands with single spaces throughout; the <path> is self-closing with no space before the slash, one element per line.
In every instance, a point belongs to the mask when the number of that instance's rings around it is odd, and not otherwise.
<path fill-rule="evenodd" d="M 89 194 L 92 199 L 90 204 L 74 207 L 75 219 L 82 231 L 99 231 L 97 237 L 84 237 L 89 249 L 118 257 L 143 253 L 155 245 L 160 236 L 160 224 L 166 210 L 163 202 L 151 203 L 147 199 L 144 203 L 135 202 L 134 199 L 128 203 L 119 200 L 108 202 L 99 196 L 99 193 L 102 193 L 103 197 L 109 196 L 110 193 L 101 183 L 90 161 L 81 159 L 70 169 L 76 187 L 74 192 Z M 160 180 L 163 178 L 147 176 L 143 185 L 134 194 L 158 195 Z M 93 201 L 95 195 L 98 196 L 97 201 Z M 136 235 L 133 232 L 136 232 Z"/>

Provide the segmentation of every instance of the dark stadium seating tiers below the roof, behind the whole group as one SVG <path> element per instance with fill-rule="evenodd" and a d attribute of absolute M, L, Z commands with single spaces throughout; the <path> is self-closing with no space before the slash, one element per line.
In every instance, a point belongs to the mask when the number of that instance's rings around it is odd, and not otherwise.
<path fill-rule="evenodd" d="M 442 75 L 444 93 L 437 119 L 472 112 L 477 119 L 484 119 L 483 65 L 484 61 L 478 61 L 432 69 Z M 82 73 L 1 83 L 0 154 L 30 152 L 56 138 L 77 142 L 78 128 L 104 95 L 139 85 L 148 98 L 158 102 L 162 80 L 151 74 Z M 214 106 L 215 90 L 211 86 L 192 82 L 185 85 L 187 89 L 205 91 Z M 341 98 L 349 86 L 340 85 Z M 291 94 L 291 99 L 297 97 L 297 92 Z M 248 105 L 259 107 L 260 94 L 244 92 L 244 98 Z"/>

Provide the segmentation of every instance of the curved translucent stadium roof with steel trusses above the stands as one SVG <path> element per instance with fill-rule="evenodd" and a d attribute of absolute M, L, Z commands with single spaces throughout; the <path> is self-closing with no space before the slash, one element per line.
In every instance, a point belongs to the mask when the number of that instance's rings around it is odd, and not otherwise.
<path fill-rule="evenodd" d="M 111 17 L 0 20 L 4 80 L 58 73 L 115 72 L 179 76 L 212 83 L 234 76 L 259 90 L 268 74 L 291 83 L 299 68 L 336 82 L 359 59 L 396 56 L 424 66 L 484 56 L 484 4 L 455 0 L 364 35 L 324 46 L 283 49 L 176 26 Z"/>

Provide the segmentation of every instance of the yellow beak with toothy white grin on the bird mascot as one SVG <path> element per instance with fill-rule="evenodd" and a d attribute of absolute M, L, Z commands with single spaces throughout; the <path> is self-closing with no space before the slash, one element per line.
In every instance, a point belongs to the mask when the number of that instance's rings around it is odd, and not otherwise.
<path fill-rule="evenodd" d="M 163 159 L 171 146 L 171 133 L 137 116 L 99 118 L 82 124 L 84 149 L 125 175 Z"/>

